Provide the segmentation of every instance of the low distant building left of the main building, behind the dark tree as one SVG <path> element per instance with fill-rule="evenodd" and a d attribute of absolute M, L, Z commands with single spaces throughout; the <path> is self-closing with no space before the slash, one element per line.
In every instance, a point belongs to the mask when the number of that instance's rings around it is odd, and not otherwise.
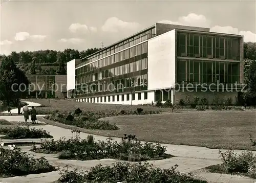
<path fill-rule="evenodd" d="M 30 81 L 28 97 L 65 98 L 67 75 L 26 75 Z"/>

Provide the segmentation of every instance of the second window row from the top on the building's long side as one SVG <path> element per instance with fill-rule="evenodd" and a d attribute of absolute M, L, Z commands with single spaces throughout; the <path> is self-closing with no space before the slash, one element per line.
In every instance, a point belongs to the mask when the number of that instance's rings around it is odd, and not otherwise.
<path fill-rule="evenodd" d="M 98 68 L 111 65 L 113 63 L 116 63 L 125 59 L 133 58 L 137 55 L 141 55 L 144 53 L 147 53 L 147 42 L 136 45 L 135 47 L 116 53 L 115 55 L 103 58 L 101 60 L 82 66 L 80 68 L 77 68 L 76 75 L 90 72 Z"/>

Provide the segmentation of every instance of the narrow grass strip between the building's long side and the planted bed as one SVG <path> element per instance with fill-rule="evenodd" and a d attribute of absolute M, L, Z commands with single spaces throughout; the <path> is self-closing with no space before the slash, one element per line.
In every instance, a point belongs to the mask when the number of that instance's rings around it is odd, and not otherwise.
<path fill-rule="evenodd" d="M 90 111 L 120 111 L 120 110 L 136 110 L 142 108 L 143 110 L 157 110 L 157 111 L 171 111 L 171 108 L 159 108 L 155 106 L 140 106 L 140 105 L 118 105 L 118 104 L 97 104 L 86 102 L 75 102 L 70 100 L 57 100 L 57 99 L 24 99 L 24 101 L 31 101 L 41 104 L 42 106 L 35 107 L 37 110 L 50 112 L 53 110 L 71 111 L 77 108 L 81 110 Z M 50 102 L 49 102 L 50 101 Z"/>

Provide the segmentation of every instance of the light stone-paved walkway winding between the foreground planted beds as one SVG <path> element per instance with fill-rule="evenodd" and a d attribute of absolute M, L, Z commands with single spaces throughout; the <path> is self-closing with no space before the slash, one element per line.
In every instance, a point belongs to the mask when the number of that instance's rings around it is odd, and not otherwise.
<path fill-rule="evenodd" d="M 31 103 L 29 103 L 31 105 Z M 36 106 L 35 103 L 32 105 Z M 37 104 L 38 106 L 38 104 Z M 2 116 L 0 119 L 5 119 L 7 121 L 24 121 L 23 116 Z M 44 122 L 40 122 L 44 123 Z M 65 136 L 66 138 L 72 138 L 72 133 L 70 129 L 60 128 L 57 126 L 51 125 L 39 125 L 33 126 L 35 128 L 44 128 L 49 131 L 51 135 L 53 135 L 54 139 L 58 140 L 59 138 Z M 87 138 L 88 133 L 80 133 L 81 138 Z M 105 136 L 94 135 L 95 140 L 105 141 L 107 138 Z M 120 138 L 114 138 L 115 141 L 121 141 Z M 5 143 L 10 142 L 38 142 L 38 139 L 28 139 L 28 140 L 4 140 Z M 201 179 L 205 179 L 208 182 L 223 182 L 223 183 L 236 183 L 236 182 L 244 182 L 244 183 L 253 183 L 254 180 L 235 176 L 235 175 L 226 175 L 226 174 L 216 174 L 216 173 L 207 173 L 200 172 L 198 170 L 205 168 L 210 165 L 221 164 L 219 158 L 219 150 L 218 149 L 208 149 L 204 147 L 196 147 L 196 146 L 185 146 L 185 145 L 171 145 L 171 144 L 163 144 L 166 146 L 166 153 L 173 154 L 177 157 L 162 159 L 159 161 L 150 161 L 150 163 L 154 164 L 154 166 L 159 168 L 170 168 L 175 164 L 179 165 L 178 170 L 184 173 L 188 172 L 198 172 L 196 177 L 200 177 Z M 30 147 L 22 147 L 24 151 L 29 154 L 33 154 L 36 157 L 45 156 L 49 162 L 51 162 L 54 166 L 64 167 L 65 165 L 69 165 L 72 168 L 80 168 L 83 170 L 88 170 L 91 167 L 101 163 L 102 165 L 111 165 L 116 162 L 116 159 L 101 159 L 100 161 L 73 161 L 73 160 L 65 160 L 65 159 L 57 159 L 56 154 L 38 154 L 29 151 Z M 226 151 L 226 150 L 223 150 Z M 242 150 L 236 150 L 236 153 L 241 153 Z M 47 179 L 46 179 L 47 177 Z M 36 175 L 28 175 L 22 177 L 10 177 L 0 179 L 2 182 L 52 182 L 57 180 L 59 174 L 57 171 L 44 173 L 44 174 L 36 174 Z M 256 180 L 255 180 L 256 182 Z"/>

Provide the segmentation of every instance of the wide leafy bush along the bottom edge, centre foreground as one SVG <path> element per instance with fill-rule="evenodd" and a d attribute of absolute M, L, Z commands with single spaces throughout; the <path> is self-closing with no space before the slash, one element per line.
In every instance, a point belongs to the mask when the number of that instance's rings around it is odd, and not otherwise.
<path fill-rule="evenodd" d="M 178 165 L 170 169 L 154 168 L 148 163 L 131 164 L 117 162 L 112 166 L 101 164 L 92 167 L 90 171 L 66 169 L 60 171 L 60 182 L 182 182 L 182 183 L 206 183 L 203 180 L 194 179 L 191 175 L 182 174 L 177 170 Z"/>

